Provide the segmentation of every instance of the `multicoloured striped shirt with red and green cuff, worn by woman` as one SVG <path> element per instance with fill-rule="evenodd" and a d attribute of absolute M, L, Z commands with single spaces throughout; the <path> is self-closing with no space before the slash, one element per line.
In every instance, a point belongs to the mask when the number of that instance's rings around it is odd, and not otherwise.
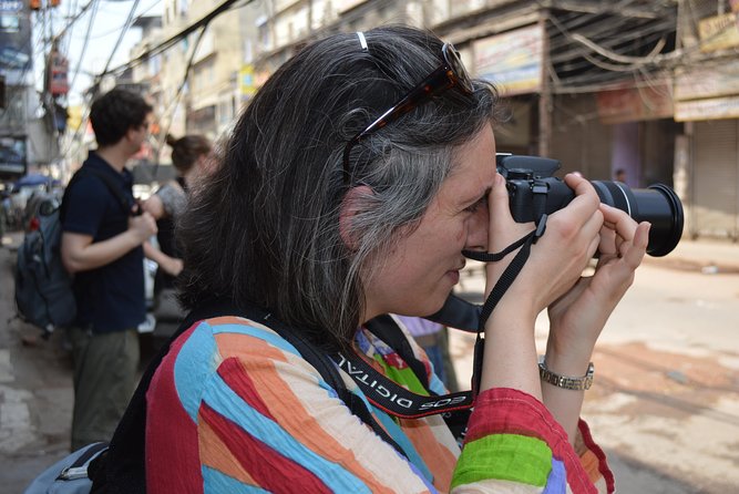
<path fill-rule="evenodd" d="M 413 351 L 443 392 L 423 351 Z M 427 393 L 394 351 L 358 331 L 374 367 Z M 613 492 L 603 452 L 581 421 L 576 453 L 533 397 L 481 393 L 460 450 L 439 415 L 401 420 L 347 388 L 404 452 L 361 422 L 298 351 L 269 328 L 237 317 L 201 321 L 184 332 L 150 385 L 146 483 L 150 493 L 597 493 Z"/>

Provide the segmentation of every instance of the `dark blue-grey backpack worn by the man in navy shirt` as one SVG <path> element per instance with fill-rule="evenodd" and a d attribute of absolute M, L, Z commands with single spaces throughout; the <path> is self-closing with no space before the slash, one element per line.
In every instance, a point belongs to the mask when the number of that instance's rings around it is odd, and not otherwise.
<path fill-rule="evenodd" d="M 39 229 L 25 234 L 18 249 L 13 274 L 16 305 L 20 319 L 41 328 L 44 338 L 57 328 L 70 326 L 76 316 L 72 276 L 64 268 L 61 256 L 62 217 L 68 192 L 85 174 L 100 178 L 126 214 L 133 206 L 112 177 L 83 166 L 70 181 L 61 205 L 50 214 L 40 214 Z"/>

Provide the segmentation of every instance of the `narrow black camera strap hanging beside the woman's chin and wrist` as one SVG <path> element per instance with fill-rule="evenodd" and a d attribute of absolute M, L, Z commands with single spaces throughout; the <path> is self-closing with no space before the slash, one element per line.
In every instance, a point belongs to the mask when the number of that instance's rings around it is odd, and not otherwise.
<path fill-rule="evenodd" d="M 538 216 L 538 220 L 536 222 L 536 229 L 514 241 L 500 253 L 476 253 L 473 250 L 462 251 L 462 254 L 470 259 L 480 260 L 483 263 L 495 263 L 521 247 L 521 250 L 519 250 L 519 253 L 515 255 L 511 264 L 505 268 L 503 275 L 501 275 L 501 278 L 491 290 L 487 299 L 485 300 L 485 303 L 482 307 L 482 311 L 480 312 L 478 338 L 475 339 L 474 343 L 474 363 L 472 372 L 472 391 L 475 395 L 480 390 L 482 357 L 485 344 L 485 339 L 482 335 L 485 329 L 485 322 L 487 321 L 490 315 L 493 313 L 493 309 L 495 309 L 495 306 L 497 306 L 497 303 L 501 301 L 507 289 L 511 288 L 511 285 L 513 285 L 513 281 L 515 281 L 519 272 L 521 272 L 521 269 L 523 269 L 523 266 L 526 264 L 528 255 L 531 254 L 531 246 L 536 244 L 542 235 L 544 235 L 544 230 L 546 229 L 546 214 L 541 214 Z"/>

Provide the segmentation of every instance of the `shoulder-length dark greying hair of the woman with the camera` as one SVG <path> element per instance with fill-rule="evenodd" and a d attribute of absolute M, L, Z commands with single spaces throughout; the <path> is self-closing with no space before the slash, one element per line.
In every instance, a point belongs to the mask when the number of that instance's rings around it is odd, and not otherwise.
<path fill-rule="evenodd" d="M 451 89 L 346 143 L 441 62 L 429 32 L 384 27 L 318 41 L 286 62 L 235 126 L 223 163 L 193 197 L 178 235 L 186 307 L 208 298 L 267 308 L 315 342 L 347 348 L 378 254 L 417 225 L 456 150 L 496 119 L 494 89 Z M 343 238 L 341 202 L 366 185 Z"/>

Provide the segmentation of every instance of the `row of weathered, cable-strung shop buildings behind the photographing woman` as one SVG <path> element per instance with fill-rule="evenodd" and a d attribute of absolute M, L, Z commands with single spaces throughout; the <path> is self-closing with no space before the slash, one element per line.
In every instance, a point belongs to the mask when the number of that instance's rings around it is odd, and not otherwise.
<path fill-rule="evenodd" d="M 164 38 L 216 3 L 167 0 Z M 499 151 L 550 156 L 592 179 L 623 169 L 633 188 L 667 184 L 686 234 L 739 238 L 739 1 L 263 0 L 237 11 L 213 21 L 193 59 L 177 124 L 187 132 L 220 135 L 314 39 L 409 23 L 453 42 L 470 72 L 496 84 L 510 110 Z M 163 56 L 163 101 L 193 40 Z"/>

